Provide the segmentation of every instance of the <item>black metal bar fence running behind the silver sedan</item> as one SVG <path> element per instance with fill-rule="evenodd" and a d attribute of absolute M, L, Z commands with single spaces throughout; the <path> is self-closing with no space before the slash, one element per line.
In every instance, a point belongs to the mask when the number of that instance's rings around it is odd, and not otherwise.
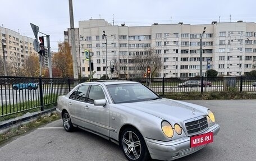
<path fill-rule="evenodd" d="M 256 94 L 256 77 L 182 77 L 129 79 L 141 82 L 159 95 L 175 93 L 208 93 L 212 91 L 246 91 Z M 84 79 L 0 76 L 0 118 L 30 111 L 57 102 Z"/>

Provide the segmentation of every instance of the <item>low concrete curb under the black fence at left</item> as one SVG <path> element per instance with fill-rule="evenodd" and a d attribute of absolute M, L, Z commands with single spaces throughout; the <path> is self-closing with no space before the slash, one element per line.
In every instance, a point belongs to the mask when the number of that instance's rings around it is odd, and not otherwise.
<path fill-rule="evenodd" d="M 52 112 L 55 112 L 55 111 L 56 111 L 56 107 L 53 107 L 53 108 L 47 109 L 45 111 L 26 113 L 23 116 L 8 119 L 6 121 L 1 121 L 0 122 L 0 134 L 10 130 L 11 128 L 15 128 L 17 126 L 20 126 L 21 124 L 29 123 L 31 121 L 34 121 L 39 116 L 45 116 L 45 115 L 51 114 Z"/>

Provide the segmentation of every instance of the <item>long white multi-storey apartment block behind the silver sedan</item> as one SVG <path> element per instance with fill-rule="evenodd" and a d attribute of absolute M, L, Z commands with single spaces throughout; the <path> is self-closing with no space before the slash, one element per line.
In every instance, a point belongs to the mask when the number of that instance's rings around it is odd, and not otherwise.
<path fill-rule="evenodd" d="M 103 36 L 103 31 L 106 36 Z M 144 69 L 135 66 L 133 59 L 134 56 L 147 54 L 147 49 L 161 58 L 157 77 L 198 76 L 200 38 L 203 75 L 207 69 L 216 70 L 219 75 L 245 75 L 256 69 L 255 32 L 255 23 L 243 21 L 213 21 L 203 25 L 155 23 L 131 27 L 125 24 L 113 26 L 103 19 L 79 21 L 79 36 L 83 38 L 79 39 L 81 76 L 89 75 L 89 62 L 85 60 L 84 49 L 94 53 L 95 78 L 106 74 L 106 70 L 112 77 L 143 77 Z M 116 68 L 120 71 L 118 75 L 117 72 L 111 73 L 111 63 L 120 63 Z"/>

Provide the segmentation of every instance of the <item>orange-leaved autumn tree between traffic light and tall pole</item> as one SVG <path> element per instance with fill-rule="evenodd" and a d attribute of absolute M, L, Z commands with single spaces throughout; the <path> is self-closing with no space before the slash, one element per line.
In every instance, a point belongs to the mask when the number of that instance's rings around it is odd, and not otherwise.
<path fill-rule="evenodd" d="M 53 54 L 52 65 L 60 71 L 60 77 L 73 77 L 71 46 L 67 42 L 58 44 L 59 51 Z"/>

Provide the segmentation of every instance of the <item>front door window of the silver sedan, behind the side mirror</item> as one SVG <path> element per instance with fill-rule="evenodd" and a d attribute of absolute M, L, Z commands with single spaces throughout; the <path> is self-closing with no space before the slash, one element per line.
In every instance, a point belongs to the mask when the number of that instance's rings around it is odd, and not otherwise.
<path fill-rule="evenodd" d="M 88 102 L 93 103 L 97 99 L 105 99 L 105 94 L 101 86 L 92 85 L 89 91 Z"/>

